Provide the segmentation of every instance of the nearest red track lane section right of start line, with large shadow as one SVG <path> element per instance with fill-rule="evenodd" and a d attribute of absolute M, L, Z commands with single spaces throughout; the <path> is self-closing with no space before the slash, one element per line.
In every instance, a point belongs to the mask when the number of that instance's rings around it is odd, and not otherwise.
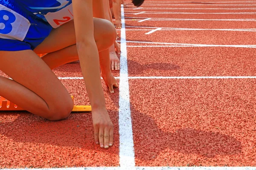
<path fill-rule="evenodd" d="M 255 83 L 130 80 L 137 166 L 255 166 Z"/>

